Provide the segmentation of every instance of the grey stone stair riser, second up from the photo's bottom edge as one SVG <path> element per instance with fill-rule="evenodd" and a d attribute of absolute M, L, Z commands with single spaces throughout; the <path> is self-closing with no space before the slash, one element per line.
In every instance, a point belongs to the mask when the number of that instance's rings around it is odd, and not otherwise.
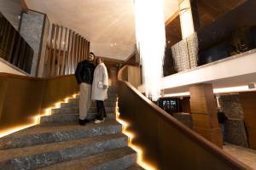
<path fill-rule="evenodd" d="M 0 167 L 3 169 L 34 169 L 38 167 L 46 167 L 62 161 L 69 161 L 78 159 L 84 156 L 94 155 L 107 150 L 115 150 L 125 147 L 127 145 L 127 138 L 110 139 L 93 144 L 84 144 L 67 148 L 63 150 L 55 150 L 46 152 L 44 154 L 34 156 L 24 156 L 14 158 L 8 161 L 0 162 Z"/>

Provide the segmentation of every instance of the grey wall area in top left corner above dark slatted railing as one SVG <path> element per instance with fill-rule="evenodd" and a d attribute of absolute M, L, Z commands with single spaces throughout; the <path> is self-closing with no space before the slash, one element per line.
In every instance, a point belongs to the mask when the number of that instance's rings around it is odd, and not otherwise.
<path fill-rule="evenodd" d="M 0 0 L 0 12 L 19 30 L 22 5 L 20 0 Z"/>

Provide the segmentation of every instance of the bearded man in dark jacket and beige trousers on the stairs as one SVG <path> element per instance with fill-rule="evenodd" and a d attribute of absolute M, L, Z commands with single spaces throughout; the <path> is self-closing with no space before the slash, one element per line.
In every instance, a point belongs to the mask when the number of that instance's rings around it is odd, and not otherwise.
<path fill-rule="evenodd" d="M 93 61 L 95 59 L 95 54 L 90 52 L 89 59 L 84 59 L 80 61 L 75 76 L 80 88 L 80 99 L 79 99 L 79 124 L 85 125 L 90 120 L 86 119 L 87 113 L 90 109 L 90 94 L 91 94 L 91 84 L 93 82 L 93 75 L 95 70 L 95 65 Z"/>

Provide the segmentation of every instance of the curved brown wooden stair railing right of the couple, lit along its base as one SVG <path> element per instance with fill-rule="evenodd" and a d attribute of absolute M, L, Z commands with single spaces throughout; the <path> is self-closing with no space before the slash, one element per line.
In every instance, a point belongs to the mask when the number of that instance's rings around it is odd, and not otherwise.
<path fill-rule="evenodd" d="M 123 81 L 125 69 L 127 66 L 119 71 L 120 117 L 135 133 L 132 142 L 143 148 L 145 161 L 160 170 L 250 169 Z"/>

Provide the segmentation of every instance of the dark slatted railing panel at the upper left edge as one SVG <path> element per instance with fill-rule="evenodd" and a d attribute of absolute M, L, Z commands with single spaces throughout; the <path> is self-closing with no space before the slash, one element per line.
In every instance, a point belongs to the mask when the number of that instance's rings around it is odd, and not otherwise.
<path fill-rule="evenodd" d="M 33 49 L 0 13 L 0 57 L 30 74 L 33 54 Z"/>

